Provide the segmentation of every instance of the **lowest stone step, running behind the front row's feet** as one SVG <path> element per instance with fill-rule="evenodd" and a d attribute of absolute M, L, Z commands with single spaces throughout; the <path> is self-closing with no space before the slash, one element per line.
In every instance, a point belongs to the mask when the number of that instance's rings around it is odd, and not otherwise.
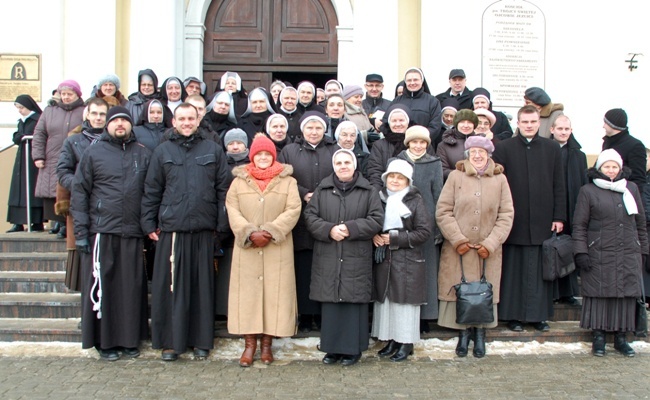
<path fill-rule="evenodd" d="M 81 342 L 81 331 L 77 329 L 79 318 L 0 318 L 0 341 L 26 342 Z M 488 329 L 488 342 L 559 342 L 577 343 L 591 342 L 590 330 L 581 329 L 577 321 L 550 322 L 549 332 L 538 332 L 530 326 L 524 327 L 524 332 L 512 332 L 505 324 L 499 324 L 494 329 Z M 215 338 L 237 338 L 228 333 L 225 321 L 215 323 Z M 319 337 L 318 331 L 299 333 L 294 338 Z M 448 340 L 458 337 L 458 332 L 452 329 L 440 328 L 437 325 L 431 332 L 423 334 L 422 339 Z M 628 340 L 649 342 L 648 338 L 635 338 L 628 334 Z M 607 342 L 613 341 L 613 335 L 608 335 Z"/>

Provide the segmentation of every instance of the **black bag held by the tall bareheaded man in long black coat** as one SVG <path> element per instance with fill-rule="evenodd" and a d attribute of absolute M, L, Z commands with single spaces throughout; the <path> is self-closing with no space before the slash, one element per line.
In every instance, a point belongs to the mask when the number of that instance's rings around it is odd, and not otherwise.
<path fill-rule="evenodd" d="M 543 263 L 542 278 L 545 281 L 554 281 L 564 278 L 576 270 L 573 259 L 573 241 L 570 235 L 553 236 L 542 243 Z"/>

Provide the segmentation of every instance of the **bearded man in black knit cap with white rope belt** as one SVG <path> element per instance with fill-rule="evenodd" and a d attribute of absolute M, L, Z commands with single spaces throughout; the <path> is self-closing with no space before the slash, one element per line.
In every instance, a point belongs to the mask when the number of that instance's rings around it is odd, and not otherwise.
<path fill-rule="evenodd" d="M 81 341 L 101 358 L 140 355 L 147 338 L 147 281 L 140 202 L 151 152 L 131 134 L 128 110 L 113 107 L 106 131 L 83 154 L 70 212 L 82 269 Z"/>

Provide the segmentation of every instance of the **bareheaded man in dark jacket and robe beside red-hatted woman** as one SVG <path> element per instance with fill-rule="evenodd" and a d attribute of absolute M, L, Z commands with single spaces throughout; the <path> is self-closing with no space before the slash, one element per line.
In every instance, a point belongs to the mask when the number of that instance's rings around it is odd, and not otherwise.
<path fill-rule="evenodd" d="M 157 241 L 151 283 L 151 342 L 175 361 L 187 347 L 214 347 L 214 235 L 228 232 L 230 168 L 221 146 L 199 130 L 197 109 L 181 103 L 174 131 L 151 156 L 142 229 Z"/>

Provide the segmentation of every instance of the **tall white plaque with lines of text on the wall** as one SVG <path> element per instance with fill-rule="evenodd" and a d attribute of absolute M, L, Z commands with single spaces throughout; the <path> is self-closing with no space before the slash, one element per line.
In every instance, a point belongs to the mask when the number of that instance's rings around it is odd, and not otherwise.
<path fill-rule="evenodd" d="M 534 4 L 502 0 L 483 13 L 481 82 L 496 107 L 521 107 L 530 86 L 545 85 L 546 20 Z"/>

